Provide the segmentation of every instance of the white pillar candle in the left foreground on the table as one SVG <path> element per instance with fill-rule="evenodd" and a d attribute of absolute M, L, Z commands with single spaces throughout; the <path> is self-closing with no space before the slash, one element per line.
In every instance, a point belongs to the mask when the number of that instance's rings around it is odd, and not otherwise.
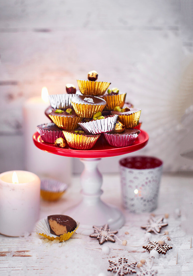
<path fill-rule="evenodd" d="M 28 171 L 0 174 L 0 233 L 18 237 L 31 233 L 39 219 L 40 179 Z M 17 181 L 18 179 L 18 181 Z"/>

